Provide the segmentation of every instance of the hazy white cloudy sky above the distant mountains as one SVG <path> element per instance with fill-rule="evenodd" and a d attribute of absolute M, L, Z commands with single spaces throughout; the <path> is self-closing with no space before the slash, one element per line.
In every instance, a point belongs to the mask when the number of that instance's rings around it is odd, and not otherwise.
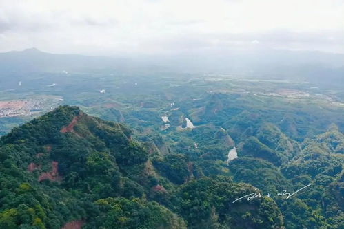
<path fill-rule="evenodd" d="M 158 54 L 271 47 L 344 53 L 344 0 L 0 0 L 0 52 Z"/>

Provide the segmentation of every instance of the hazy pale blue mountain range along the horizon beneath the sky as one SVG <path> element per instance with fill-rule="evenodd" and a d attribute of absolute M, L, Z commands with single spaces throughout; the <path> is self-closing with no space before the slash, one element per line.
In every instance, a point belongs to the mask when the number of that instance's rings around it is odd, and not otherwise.
<path fill-rule="evenodd" d="M 2 74 L 116 71 L 228 74 L 237 78 L 307 80 L 338 85 L 344 54 L 290 50 L 204 50 L 161 56 L 82 56 L 50 54 L 35 48 L 0 54 Z M 323 79 L 326 80 L 323 80 Z"/>

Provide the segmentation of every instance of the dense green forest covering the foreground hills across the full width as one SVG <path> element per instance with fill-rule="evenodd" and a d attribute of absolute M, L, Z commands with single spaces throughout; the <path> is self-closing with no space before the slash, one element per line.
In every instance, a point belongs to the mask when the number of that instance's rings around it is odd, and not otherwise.
<path fill-rule="evenodd" d="M 204 146 L 164 151 L 159 133 L 78 107 L 15 127 L 0 140 L 0 228 L 343 228 L 338 127 L 296 142 L 263 123 L 229 164 L 230 135 L 204 128 L 182 132 Z M 250 193 L 260 197 L 233 203 Z"/>

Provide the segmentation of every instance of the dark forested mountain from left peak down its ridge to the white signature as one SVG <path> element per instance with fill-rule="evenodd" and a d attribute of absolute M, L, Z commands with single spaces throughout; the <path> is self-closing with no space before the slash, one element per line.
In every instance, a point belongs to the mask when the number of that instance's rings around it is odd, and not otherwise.
<path fill-rule="evenodd" d="M 233 203 L 255 192 L 250 184 L 205 172 L 188 155 L 151 151 L 123 124 L 77 107 L 0 141 L 0 228 L 283 228 L 274 199 Z"/>

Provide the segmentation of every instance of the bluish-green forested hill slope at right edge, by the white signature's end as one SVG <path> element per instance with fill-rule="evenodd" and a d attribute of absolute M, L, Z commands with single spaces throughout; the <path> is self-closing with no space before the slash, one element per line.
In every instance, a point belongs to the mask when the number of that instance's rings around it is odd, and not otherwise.
<path fill-rule="evenodd" d="M 325 133 L 296 142 L 265 123 L 238 145 L 239 157 L 229 163 L 229 171 L 234 181 L 277 195 L 274 200 L 283 212 L 285 228 L 341 228 L 343 139 L 332 125 Z M 307 191 L 288 201 L 278 195 L 305 186 Z"/>

